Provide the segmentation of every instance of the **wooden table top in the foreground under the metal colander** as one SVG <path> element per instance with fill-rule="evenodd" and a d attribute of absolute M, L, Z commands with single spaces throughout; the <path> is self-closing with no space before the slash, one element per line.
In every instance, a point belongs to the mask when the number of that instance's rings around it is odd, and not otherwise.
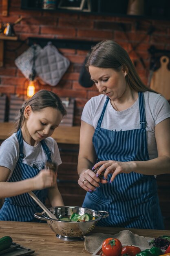
<path fill-rule="evenodd" d="M 93 233 L 117 234 L 124 228 L 95 227 Z M 170 235 L 169 230 L 129 229 L 146 237 Z M 46 223 L 0 221 L 0 238 L 11 236 L 13 242 L 35 250 L 33 256 L 90 256 L 84 249 L 84 241 L 68 242 L 56 238 Z"/>

